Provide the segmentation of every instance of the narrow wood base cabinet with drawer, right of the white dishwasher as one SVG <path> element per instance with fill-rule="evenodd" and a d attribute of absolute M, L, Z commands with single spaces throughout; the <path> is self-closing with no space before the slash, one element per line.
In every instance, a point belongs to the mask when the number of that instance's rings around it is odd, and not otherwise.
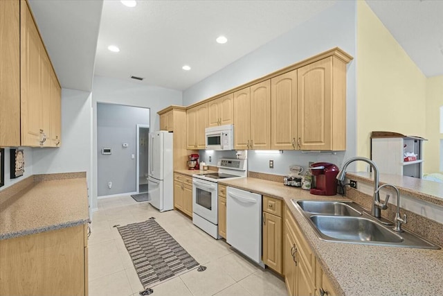
<path fill-rule="evenodd" d="M 282 274 L 282 200 L 263 195 L 263 263 Z"/>

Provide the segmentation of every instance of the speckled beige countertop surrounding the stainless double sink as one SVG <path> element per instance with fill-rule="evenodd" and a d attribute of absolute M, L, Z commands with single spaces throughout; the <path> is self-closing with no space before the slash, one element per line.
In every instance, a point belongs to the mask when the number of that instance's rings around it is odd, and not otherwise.
<path fill-rule="evenodd" d="M 293 206 L 297 200 L 346 200 L 251 177 L 219 182 L 284 200 L 340 295 L 443 295 L 443 250 L 321 241 Z"/>

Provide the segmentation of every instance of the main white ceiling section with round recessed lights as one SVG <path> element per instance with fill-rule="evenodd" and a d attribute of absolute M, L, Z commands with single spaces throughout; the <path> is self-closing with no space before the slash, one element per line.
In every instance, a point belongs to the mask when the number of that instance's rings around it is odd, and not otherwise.
<path fill-rule="evenodd" d="M 334 2 L 138 1 L 127 8 L 105 0 L 96 74 L 187 89 Z M 217 44 L 219 35 L 228 42 Z M 108 51 L 110 44 L 120 52 Z M 183 71 L 184 64 L 192 69 Z"/>

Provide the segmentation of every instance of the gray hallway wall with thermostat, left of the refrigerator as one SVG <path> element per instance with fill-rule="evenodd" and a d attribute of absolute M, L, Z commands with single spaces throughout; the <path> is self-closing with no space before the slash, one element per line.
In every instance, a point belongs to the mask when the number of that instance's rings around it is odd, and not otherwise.
<path fill-rule="evenodd" d="M 148 125 L 150 110 L 115 104 L 97 104 L 98 196 L 130 193 L 136 189 L 137 124 Z M 123 147 L 127 143 L 127 147 Z M 102 155 L 111 148 L 111 155 Z M 132 159 L 134 155 L 134 159 Z M 108 182 L 112 182 L 109 189 Z"/>

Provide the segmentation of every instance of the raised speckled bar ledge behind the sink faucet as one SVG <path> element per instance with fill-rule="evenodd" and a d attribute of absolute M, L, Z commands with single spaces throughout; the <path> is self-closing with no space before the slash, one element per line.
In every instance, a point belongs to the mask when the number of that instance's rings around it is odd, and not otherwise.
<path fill-rule="evenodd" d="M 374 184 L 372 173 L 346 173 L 348 179 Z M 413 195 L 415 198 L 443 206 L 443 183 L 417 179 L 402 175 L 380 174 L 380 184 L 389 183 L 397 186 L 400 193 Z"/>

